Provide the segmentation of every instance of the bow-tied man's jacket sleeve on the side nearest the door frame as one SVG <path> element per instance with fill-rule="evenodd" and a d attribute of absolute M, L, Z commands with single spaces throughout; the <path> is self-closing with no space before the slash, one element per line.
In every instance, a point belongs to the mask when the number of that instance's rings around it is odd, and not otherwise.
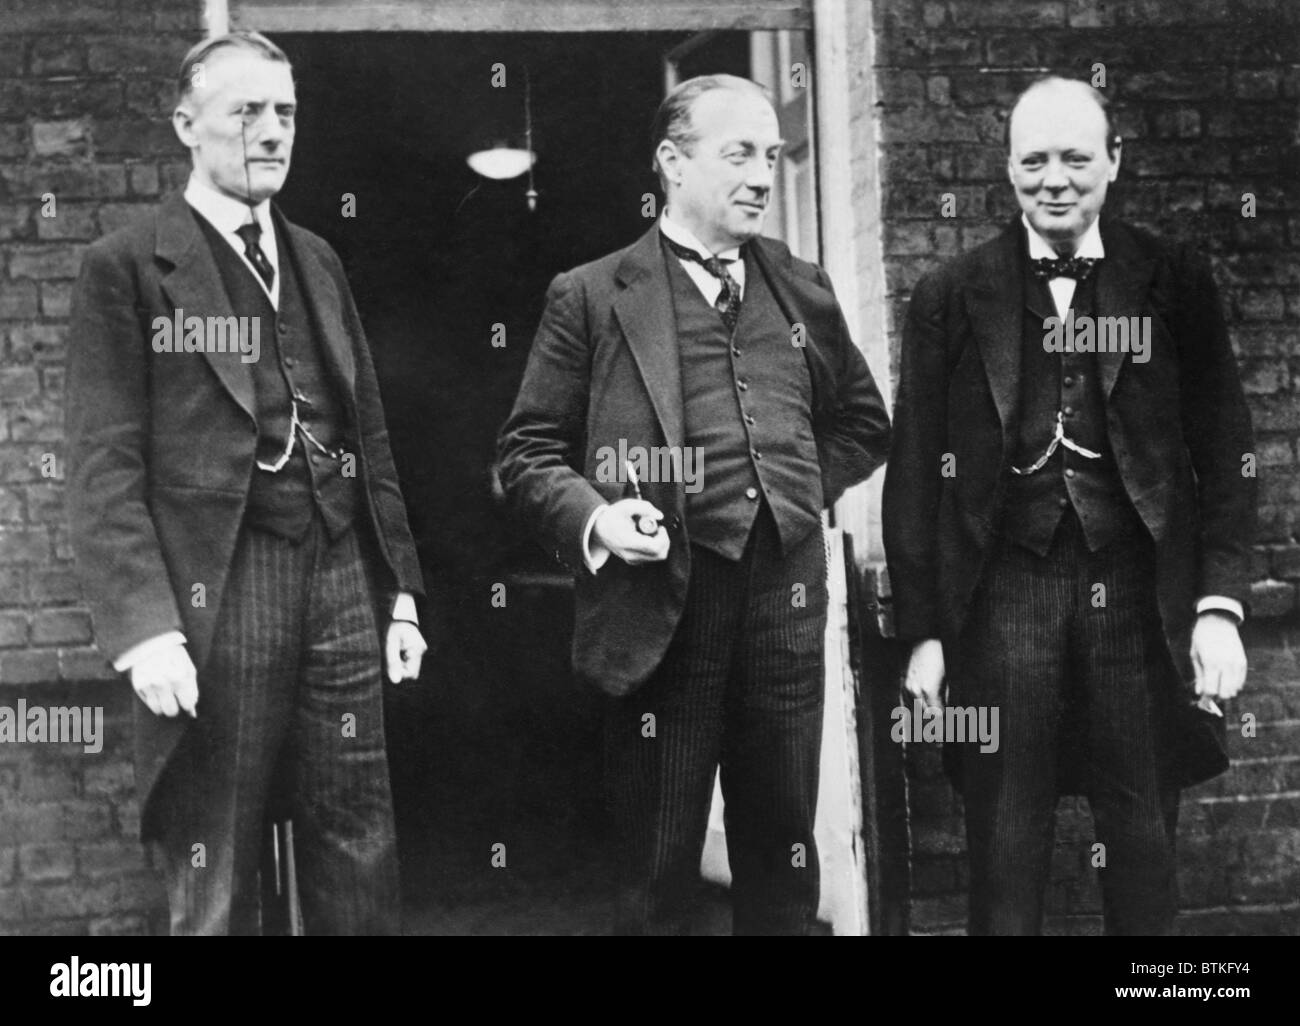
<path fill-rule="evenodd" d="M 904 325 L 894 437 L 885 472 L 885 560 L 898 637 L 939 637 L 939 501 L 948 437 L 948 364 L 942 289 L 916 283 Z"/>

